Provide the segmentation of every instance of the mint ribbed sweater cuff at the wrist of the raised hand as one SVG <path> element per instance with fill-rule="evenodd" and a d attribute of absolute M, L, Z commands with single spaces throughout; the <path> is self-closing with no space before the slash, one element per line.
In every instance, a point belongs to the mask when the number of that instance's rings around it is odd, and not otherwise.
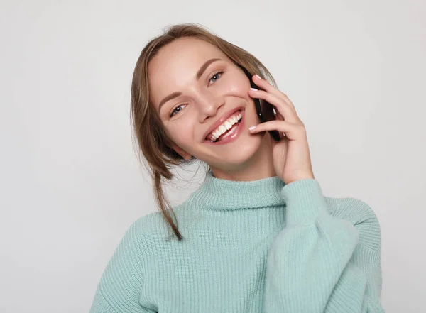
<path fill-rule="evenodd" d="M 281 194 L 286 204 L 287 225 L 313 224 L 318 216 L 329 214 L 320 183 L 315 179 L 290 182 Z"/>

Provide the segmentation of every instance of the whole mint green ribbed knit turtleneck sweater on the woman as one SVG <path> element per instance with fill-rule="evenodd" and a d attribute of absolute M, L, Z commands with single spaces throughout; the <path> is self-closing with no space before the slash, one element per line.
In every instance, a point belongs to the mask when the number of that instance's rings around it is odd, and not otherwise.
<path fill-rule="evenodd" d="M 383 312 L 381 233 L 354 198 L 324 197 L 317 180 L 236 182 L 207 175 L 174 208 L 126 231 L 91 313 Z"/>

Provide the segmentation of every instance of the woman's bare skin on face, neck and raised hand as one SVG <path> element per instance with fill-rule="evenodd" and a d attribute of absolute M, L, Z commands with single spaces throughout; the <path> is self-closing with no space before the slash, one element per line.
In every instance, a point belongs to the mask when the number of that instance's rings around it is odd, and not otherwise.
<path fill-rule="evenodd" d="M 212 62 L 197 79 L 200 67 L 212 58 L 221 60 Z M 203 160 L 214 177 L 226 180 L 278 176 L 289 184 L 315 179 L 305 125 L 293 103 L 257 76 L 253 76 L 253 82 L 261 90 L 251 90 L 244 72 L 219 48 L 197 38 L 180 38 L 160 49 L 148 65 L 148 75 L 151 104 L 158 110 L 173 149 L 183 158 Z M 174 92 L 182 94 L 160 107 Z M 275 121 L 259 123 L 253 97 L 275 106 Z M 239 138 L 225 145 L 204 141 L 207 129 L 239 106 L 244 106 L 246 126 Z M 256 128 L 249 130 L 250 126 Z M 268 130 L 279 131 L 280 141 L 273 141 Z"/>

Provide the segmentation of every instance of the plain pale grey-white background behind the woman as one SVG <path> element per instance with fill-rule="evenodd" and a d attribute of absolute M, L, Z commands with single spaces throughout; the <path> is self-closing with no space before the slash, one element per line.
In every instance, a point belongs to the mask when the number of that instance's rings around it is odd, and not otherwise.
<path fill-rule="evenodd" d="M 148 39 L 195 22 L 271 70 L 324 195 L 378 216 L 386 312 L 422 312 L 425 17 L 420 0 L 1 1 L 0 311 L 88 312 L 126 229 L 157 211 L 131 75 Z"/>

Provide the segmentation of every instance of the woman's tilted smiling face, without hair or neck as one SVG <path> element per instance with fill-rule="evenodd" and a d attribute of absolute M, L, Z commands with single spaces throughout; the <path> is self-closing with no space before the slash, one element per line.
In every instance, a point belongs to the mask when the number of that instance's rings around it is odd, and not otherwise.
<path fill-rule="evenodd" d="M 213 171 L 224 172 L 244 170 L 258 159 L 265 136 L 249 133 L 258 123 L 249 78 L 219 48 L 180 38 L 160 49 L 148 65 L 148 75 L 152 104 L 182 157 L 193 155 Z M 237 109 L 242 119 L 230 138 L 206 140 L 221 119 Z"/>

